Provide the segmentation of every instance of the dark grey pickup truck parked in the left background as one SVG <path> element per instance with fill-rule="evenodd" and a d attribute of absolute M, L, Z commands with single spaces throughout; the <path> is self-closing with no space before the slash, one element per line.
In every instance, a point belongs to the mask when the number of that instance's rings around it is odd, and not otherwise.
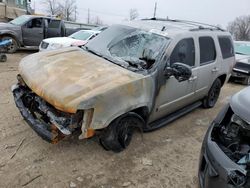
<path fill-rule="evenodd" d="M 9 53 L 14 53 L 19 48 L 38 49 L 45 38 L 69 36 L 79 29 L 84 29 L 77 23 L 70 22 L 70 25 L 75 27 L 68 28 L 65 21 L 51 17 L 24 15 L 9 23 L 0 23 L 0 39 L 12 40 L 8 47 Z M 90 26 L 88 28 L 94 28 Z"/>

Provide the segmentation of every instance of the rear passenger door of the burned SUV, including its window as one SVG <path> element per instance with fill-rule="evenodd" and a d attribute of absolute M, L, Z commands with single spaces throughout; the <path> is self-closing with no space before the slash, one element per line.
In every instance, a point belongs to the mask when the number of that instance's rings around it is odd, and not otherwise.
<path fill-rule="evenodd" d="M 199 66 L 197 67 L 197 84 L 195 89 L 196 98 L 203 98 L 207 95 L 214 80 L 220 71 L 220 57 L 217 54 L 219 46 L 216 45 L 216 38 L 208 35 L 197 37 L 199 45 Z"/>

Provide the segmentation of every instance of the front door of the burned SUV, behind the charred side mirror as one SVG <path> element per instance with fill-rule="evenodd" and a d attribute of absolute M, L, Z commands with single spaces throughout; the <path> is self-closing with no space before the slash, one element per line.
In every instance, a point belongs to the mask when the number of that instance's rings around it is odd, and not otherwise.
<path fill-rule="evenodd" d="M 184 63 L 192 67 L 192 77 L 178 82 L 174 76 L 166 80 L 156 97 L 155 108 L 150 121 L 164 117 L 194 102 L 194 90 L 197 82 L 195 43 L 193 38 L 180 40 L 174 47 L 168 64 Z M 162 75 L 164 76 L 164 75 Z"/>

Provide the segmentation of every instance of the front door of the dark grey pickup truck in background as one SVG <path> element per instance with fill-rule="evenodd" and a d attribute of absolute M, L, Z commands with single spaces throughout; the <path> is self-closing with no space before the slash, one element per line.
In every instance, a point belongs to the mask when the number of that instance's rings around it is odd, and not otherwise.
<path fill-rule="evenodd" d="M 42 18 L 33 18 L 22 26 L 24 46 L 39 46 L 44 39 Z"/>

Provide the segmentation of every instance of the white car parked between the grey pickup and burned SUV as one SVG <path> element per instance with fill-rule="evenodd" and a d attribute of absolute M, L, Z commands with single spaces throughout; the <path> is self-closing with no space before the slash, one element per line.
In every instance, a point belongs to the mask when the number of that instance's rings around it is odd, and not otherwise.
<path fill-rule="evenodd" d="M 80 30 L 68 37 L 54 37 L 44 39 L 39 46 L 39 51 L 55 50 L 70 46 L 83 46 L 89 40 L 96 37 L 99 33 L 100 31 Z"/>

